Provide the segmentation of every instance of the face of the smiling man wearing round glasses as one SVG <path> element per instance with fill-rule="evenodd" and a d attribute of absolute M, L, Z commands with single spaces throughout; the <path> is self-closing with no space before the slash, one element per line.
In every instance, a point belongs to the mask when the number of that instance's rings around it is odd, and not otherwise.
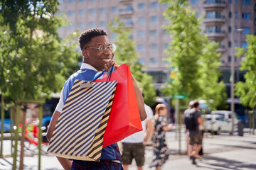
<path fill-rule="evenodd" d="M 100 45 L 110 45 L 110 40 L 106 35 L 100 35 L 92 38 L 92 40 L 87 43 L 86 50 L 82 50 L 82 55 L 85 57 L 85 62 L 95 67 L 98 71 L 104 70 L 104 65 L 113 60 L 114 52 L 110 52 L 109 49 L 105 52 L 100 52 L 98 49 L 90 47 L 100 47 Z"/>

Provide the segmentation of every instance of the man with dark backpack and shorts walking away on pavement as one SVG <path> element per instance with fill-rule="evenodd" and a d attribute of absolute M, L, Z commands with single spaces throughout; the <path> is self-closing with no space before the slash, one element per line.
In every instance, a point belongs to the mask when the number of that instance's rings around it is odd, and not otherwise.
<path fill-rule="evenodd" d="M 201 118 L 201 111 L 198 101 L 193 101 L 193 108 L 186 112 L 184 118 L 186 129 L 189 131 L 189 147 L 191 147 L 191 154 L 189 157 L 192 164 L 196 164 L 198 152 L 202 148 L 203 136 L 201 128 L 203 127 L 203 118 Z"/>

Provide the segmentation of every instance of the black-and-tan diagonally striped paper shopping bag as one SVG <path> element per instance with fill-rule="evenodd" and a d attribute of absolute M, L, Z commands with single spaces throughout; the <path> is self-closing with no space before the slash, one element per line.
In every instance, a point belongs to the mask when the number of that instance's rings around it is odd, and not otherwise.
<path fill-rule="evenodd" d="M 75 80 L 55 125 L 48 152 L 58 157 L 100 161 L 102 142 L 117 81 Z"/>

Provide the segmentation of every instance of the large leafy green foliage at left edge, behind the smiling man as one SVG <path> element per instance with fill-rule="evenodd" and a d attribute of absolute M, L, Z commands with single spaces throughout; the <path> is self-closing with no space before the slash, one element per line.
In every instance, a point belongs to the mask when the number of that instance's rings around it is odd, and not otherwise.
<path fill-rule="evenodd" d="M 0 91 L 12 100 L 60 91 L 64 75 L 78 65 L 75 38 L 62 40 L 54 16 L 58 1 L 1 1 Z"/>

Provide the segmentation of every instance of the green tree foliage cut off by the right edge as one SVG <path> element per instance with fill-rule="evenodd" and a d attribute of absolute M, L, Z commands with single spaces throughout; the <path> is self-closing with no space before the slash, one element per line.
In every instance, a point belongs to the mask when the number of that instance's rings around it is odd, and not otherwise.
<path fill-rule="evenodd" d="M 245 82 L 239 81 L 235 84 L 235 95 L 239 96 L 245 107 L 255 109 L 256 106 L 256 36 L 246 35 L 247 49 L 238 47 L 236 55 L 244 55 L 240 70 L 247 71 Z"/>

